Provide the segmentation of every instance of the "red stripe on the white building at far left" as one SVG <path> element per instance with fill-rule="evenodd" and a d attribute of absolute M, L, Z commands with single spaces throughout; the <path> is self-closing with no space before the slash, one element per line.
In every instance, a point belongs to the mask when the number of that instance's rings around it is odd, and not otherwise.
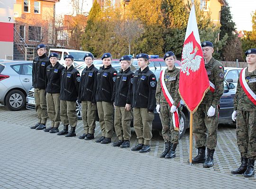
<path fill-rule="evenodd" d="M 14 24 L 0 22 L 0 42 L 13 42 Z"/>

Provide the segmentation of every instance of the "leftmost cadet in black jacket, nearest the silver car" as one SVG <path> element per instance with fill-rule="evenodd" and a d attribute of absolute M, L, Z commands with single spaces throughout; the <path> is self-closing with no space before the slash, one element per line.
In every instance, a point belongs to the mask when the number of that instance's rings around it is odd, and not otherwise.
<path fill-rule="evenodd" d="M 46 56 L 46 46 L 40 44 L 37 46 L 37 54 L 33 60 L 32 69 L 32 84 L 35 88 L 35 101 L 36 101 L 36 111 L 37 111 L 37 124 L 30 127 L 31 129 L 42 130 L 46 129 L 47 106 L 46 106 L 46 67 L 50 65 L 49 58 Z"/>

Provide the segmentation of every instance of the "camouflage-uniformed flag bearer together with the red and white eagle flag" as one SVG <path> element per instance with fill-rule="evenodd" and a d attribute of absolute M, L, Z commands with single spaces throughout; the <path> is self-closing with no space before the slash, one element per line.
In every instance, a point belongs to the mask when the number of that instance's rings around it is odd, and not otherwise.
<path fill-rule="evenodd" d="M 217 144 L 217 105 L 224 92 L 223 67 L 212 57 L 213 51 L 211 42 L 200 42 L 192 0 L 182 52 L 179 93 L 190 111 L 189 163 L 204 163 L 204 167 L 213 166 L 213 154 Z M 193 160 L 192 133 L 195 137 L 195 147 L 198 148 L 198 155 Z M 205 146 L 208 147 L 207 159 Z"/>

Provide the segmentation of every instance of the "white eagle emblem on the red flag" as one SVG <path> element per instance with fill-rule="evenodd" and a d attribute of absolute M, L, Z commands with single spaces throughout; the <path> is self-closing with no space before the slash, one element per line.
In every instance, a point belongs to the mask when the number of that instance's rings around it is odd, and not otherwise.
<path fill-rule="evenodd" d="M 189 42 L 184 45 L 183 51 L 182 51 L 182 57 L 183 60 L 181 62 L 181 70 L 183 73 L 186 73 L 187 76 L 190 75 L 189 69 L 191 69 L 193 72 L 197 71 L 200 68 L 200 63 L 202 57 L 199 55 L 196 55 L 196 52 L 198 51 L 198 47 L 194 48 L 193 52 L 193 43 Z"/>

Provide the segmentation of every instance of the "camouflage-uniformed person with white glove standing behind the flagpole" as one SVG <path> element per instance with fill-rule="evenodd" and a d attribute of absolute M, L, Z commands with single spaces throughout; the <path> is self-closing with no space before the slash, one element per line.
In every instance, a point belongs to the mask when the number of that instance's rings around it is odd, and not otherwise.
<path fill-rule="evenodd" d="M 203 167 L 213 166 L 213 154 L 217 145 L 217 129 L 219 121 L 219 100 L 224 92 L 224 69 L 218 60 L 212 57 L 213 44 L 209 41 L 201 43 L 205 69 L 210 81 L 210 90 L 205 94 L 197 111 L 193 114 L 193 135 L 198 155 L 192 163 L 203 163 Z M 214 89 L 215 87 L 215 89 Z M 205 159 L 205 146 L 207 158 Z"/>

